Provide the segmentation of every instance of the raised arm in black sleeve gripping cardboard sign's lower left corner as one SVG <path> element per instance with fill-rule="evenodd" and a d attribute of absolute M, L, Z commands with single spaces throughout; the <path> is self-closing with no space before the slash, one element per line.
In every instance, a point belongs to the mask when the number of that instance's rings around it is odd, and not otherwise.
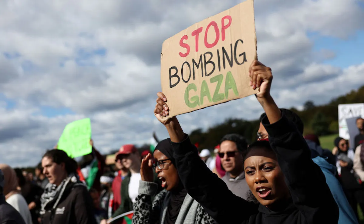
<path fill-rule="evenodd" d="M 165 125 L 174 149 L 179 178 L 187 192 L 200 203 L 218 223 L 241 224 L 257 213 L 257 205 L 233 194 L 198 156 L 197 148 L 183 133 L 176 117 L 163 119 L 168 114 L 167 99 L 158 93 L 155 116 Z"/>

